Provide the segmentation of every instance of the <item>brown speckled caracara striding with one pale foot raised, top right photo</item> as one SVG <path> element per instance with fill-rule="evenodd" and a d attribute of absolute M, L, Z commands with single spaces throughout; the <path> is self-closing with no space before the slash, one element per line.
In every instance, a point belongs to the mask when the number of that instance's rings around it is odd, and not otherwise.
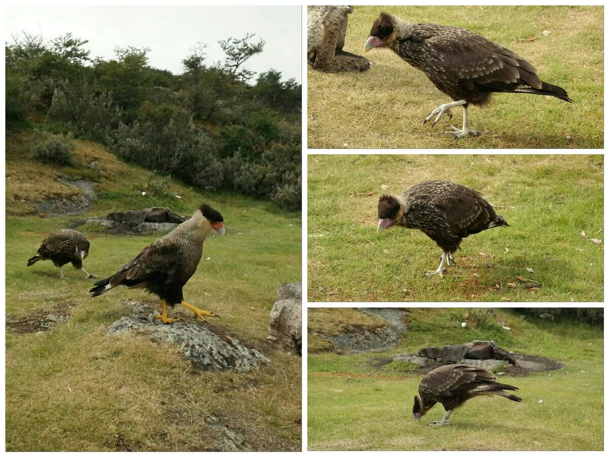
<path fill-rule="evenodd" d="M 571 102 L 563 88 L 543 82 L 537 69 L 515 52 L 459 27 L 409 24 L 381 13 L 365 44 L 366 51 L 372 48 L 391 49 L 452 98 L 423 124 L 437 116 L 435 126 L 445 113 L 452 118 L 451 108 L 463 106 L 463 128 L 451 126 L 454 132 L 444 132 L 455 138 L 478 135 L 467 126 L 467 106 L 486 104 L 493 92 L 551 95 Z"/>

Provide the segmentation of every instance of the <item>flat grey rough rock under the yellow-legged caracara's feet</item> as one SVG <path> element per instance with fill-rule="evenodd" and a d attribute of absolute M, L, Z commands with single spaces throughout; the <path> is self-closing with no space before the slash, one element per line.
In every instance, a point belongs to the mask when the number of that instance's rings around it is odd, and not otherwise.
<path fill-rule="evenodd" d="M 230 336 L 219 336 L 200 322 L 175 322 L 171 325 L 153 321 L 153 314 L 121 317 L 107 328 L 109 335 L 122 335 L 132 330 L 146 330 L 155 342 L 177 345 L 185 358 L 202 370 L 234 370 L 238 373 L 256 369 L 270 360 L 256 349 L 250 349 Z"/>

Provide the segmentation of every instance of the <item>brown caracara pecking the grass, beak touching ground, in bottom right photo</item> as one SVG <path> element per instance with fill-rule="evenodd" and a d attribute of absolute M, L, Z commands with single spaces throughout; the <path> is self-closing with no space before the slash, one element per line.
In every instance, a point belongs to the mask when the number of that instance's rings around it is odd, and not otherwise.
<path fill-rule="evenodd" d="M 412 415 L 415 419 L 420 419 L 435 403 L 442 403 L 445 409 L 442 422 L 433 422 L 432 425 L 450 425 L 448 417 L 452 410 L 478 395 L 495 394 L 514 402 L 523 401 L 506 390 L 517 391 L 518 388 L 498 383 L 490 370 L 461 364 L 444 365 L 431 370 L 421 380 L 419 393 L 415 395 L 415 404 L 412 406 Z"/>

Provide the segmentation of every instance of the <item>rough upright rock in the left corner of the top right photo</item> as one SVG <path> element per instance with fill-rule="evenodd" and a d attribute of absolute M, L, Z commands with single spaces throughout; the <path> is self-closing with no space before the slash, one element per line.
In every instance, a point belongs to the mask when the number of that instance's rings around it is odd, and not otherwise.
<path fill-rule="evenodd" d="M 343 51 L 347 34 L 347 5 L 311 5 L 307 7 L 307 58 L 312 68 L 337 73 L 366 71 L 370 62 L 361 55 Z"/>

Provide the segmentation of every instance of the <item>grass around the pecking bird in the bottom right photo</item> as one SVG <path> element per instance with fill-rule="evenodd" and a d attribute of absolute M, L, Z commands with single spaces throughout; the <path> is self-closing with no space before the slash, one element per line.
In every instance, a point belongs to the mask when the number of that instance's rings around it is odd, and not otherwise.
<path fill-rule="evenodd" d="M 309 354 L 308 449 L 602 450 L 602 328 L 524 319 L 509 310 L 470 310 L 466 320 L 473 325 L 462 328 L 463 315 L 457 308 L 415 309 L 393 350 Z M 512 330 L 502 330 L 501 322 Z M 421 374 L 373 366 L 373 358 L 474 339 L 543 355 L 563 368 L 504 377 L 520 388 L 523 403 L 473 399 L 452 414 L 450 427 L 431 428 L 429 423 L 442 418 L 441 405 L 412 419 Z"/>

